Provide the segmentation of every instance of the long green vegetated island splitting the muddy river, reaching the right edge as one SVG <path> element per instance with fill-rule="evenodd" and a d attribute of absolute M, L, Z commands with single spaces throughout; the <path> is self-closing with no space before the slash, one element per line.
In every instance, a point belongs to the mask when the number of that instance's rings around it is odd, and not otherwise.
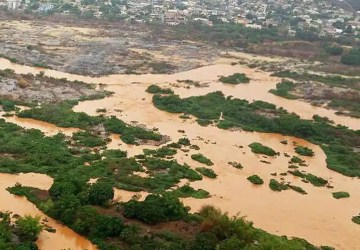
<path fill-rule="evenodd" d="M 217 122 L 221 129 L 240 127 L 247 131 L 281 133 L 318 144 L 327 155 L 328 168 L 347 176 L 360 176 L 360 131 L 334 126 L 323 120 L 304 120 L 275 105 L 225 97 L 221 92 L 181 99 L 154 95 L 154 105 L 171 113 L 189 113 L 199 119 Z M 223 120 L 218 121 L 220 114 Z M 267 115 L 271 114 L 271 116 Z"/>

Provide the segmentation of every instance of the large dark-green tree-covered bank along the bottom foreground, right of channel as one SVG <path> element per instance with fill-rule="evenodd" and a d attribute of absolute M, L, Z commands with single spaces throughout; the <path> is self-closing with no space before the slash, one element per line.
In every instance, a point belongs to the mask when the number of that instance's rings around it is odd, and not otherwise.
<path fill-rule="evenodd" d="M 57 181 L 56 181 L 57 182 Z M 63 181 L 61 181 L 63 182 Z M 12 193 L 24 195 L 50 216 L 61 220 L 76 232 L 88 237 L 99 249 L 317 249 L 305 240 L 274 236 L 252 226 L 241 217 L 229 217 L 212 206 L 190 214 L 170 193 L 149 195 L 144 201 L 130 200 L 110 207 L 88 204 L 85 182 L 68 179 L 70 192 L 51 194 L 40 199 L 29 187 L 13 187 Z M 55 185 L 55 183 L 54 183 Z M 64 187 L 65 187 L 64 186 Z M 74 188 L 75 187 L 75 188 Z M 64 189 L 65 190 L 65 189 Z M 61 208 L 61 209 L 60 209 Z M 106 215 L 107 213 L 111 215 Z M 127 223 L 124 223 L 124 217 Z M 129 220 L 130 219 L 130 220 Z M 135 222 L 139 220 L 145 224 Z M 159 232 L 151 225 L 176 221 L 189 232 Z M 149 226 L 150 225 L 150 226 Z M 328 248 L 322 248 L 328 249 Z"/>

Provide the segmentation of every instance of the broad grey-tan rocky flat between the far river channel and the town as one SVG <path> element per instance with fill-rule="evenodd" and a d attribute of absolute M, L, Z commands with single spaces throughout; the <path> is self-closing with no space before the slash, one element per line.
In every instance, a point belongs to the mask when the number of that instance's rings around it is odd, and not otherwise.
<path fill-rule="evenodd" d="M 0 17 L 0 54 L 21 64 L 98 76 L 189 70 L 218 52 L 204 44 L 161 40 L 143 25 L 6 16 Z"/>

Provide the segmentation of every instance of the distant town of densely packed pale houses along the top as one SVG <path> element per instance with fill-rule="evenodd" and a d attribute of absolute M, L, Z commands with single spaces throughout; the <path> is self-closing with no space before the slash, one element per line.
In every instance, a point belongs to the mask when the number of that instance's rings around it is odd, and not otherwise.
<path fill-rule="evenodd" d="M 0 0 L 0 8 L 49 15 L 127 20 L 179 25 L 201 22 L 208 26 L 235 23 L 248 28 L 278 27 L 295 36 L 311 31 L 318 36 L 359 38 L 360 11 L 345 1 L 328 0 Z"/>

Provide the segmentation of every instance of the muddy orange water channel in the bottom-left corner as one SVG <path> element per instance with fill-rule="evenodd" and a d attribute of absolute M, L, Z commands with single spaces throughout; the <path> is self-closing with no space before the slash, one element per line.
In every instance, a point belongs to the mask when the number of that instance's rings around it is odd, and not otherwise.
<path fill-rule="evenodd" d="M 21 216 L 31 215 L 40 216 L 42 219 L 47 219 L 47 225 L 56 229 L 56 233 L 43 231 L 38 240 L 37 245 L 40 250 L 96 250 L 97 248 L 91 244 L 90 241 L 78 235 L 66 226 L 59 224 L 57 221 L 47 217 L 44 213 L 36 208 L 35 205 L 27 201 L 25 197 L 18 197 L 10 194 L 6 188 L 20 183 L 24 186 L 36 187 L 43 190 L 48 190 L 52 185 L 53 180 L 42 174 L 0 174 L 0 211 L 11 211 L 13 214 Z"/>

